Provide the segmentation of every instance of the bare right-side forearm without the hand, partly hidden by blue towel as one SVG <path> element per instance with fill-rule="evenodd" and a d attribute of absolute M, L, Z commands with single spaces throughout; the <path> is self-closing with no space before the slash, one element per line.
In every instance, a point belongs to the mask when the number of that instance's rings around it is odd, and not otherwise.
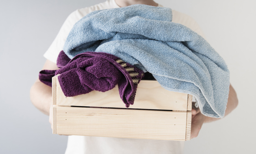
<path fill-rule="evenodd" d="M 228 103 L 227 103 L 227 108 L 225 111 L 225 116 L 227 116 L 231 111 L 233 111 L 237 107 L 237 105 L 238 105 L 238 99 L 236 96 L 236 92 L 230 84 L 229 94 L 228 94 Z M 204 116 L 204 123 L 212 122 L 212 121 L 219 120 L 219 119 L 220 118 L 211 118 L 211 117 Z"/>

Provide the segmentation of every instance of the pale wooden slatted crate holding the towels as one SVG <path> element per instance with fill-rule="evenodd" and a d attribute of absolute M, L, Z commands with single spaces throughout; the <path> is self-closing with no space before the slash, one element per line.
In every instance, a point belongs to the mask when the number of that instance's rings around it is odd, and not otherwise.
<path fill-rule="evenodd" d="M 142 80 L 126 108 L 118 88 L 65 97 L 52 78 L 53 133 L 160 140 L 190 140 L 192 95 Z"/>

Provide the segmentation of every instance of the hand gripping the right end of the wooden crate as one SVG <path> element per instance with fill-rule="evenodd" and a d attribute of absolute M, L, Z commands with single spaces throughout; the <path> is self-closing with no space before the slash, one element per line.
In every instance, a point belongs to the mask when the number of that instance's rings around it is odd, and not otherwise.
<path fill-rule="evenodd" d="M 202 115 L 199 108 L 192 107 L 192 122 L 190 139 L 197 137 L 202 125 L 204 123 L 204 115 Z"/>

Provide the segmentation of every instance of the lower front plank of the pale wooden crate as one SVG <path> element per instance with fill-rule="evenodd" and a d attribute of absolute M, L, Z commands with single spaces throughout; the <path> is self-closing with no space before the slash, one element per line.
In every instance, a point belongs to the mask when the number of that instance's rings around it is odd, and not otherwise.
<path fill-rule="evenodd" d="M 184 141 L 187 112 L 57 107 L 57 133 Z"/>

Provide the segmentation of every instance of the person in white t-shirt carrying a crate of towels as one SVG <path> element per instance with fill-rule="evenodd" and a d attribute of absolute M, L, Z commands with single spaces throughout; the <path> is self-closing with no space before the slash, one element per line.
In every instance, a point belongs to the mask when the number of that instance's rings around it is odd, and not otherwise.
<path fill-rule="evenodd" d="M 65 39 L 72 26 L 82 17 L 95 10 L 111 9 L 132 4 L 146 4 L 152 6 L 163 7 L 153 0 L 107 0 L 106 2 L 78 9 L 71 13 L 65 20 L 58 35 L 50 45 L 49 49 L 44 54 L 47 59 L 43 65 L 43 69 L 56 70 L 56 59 L 59 52 L 62 50 Z M 172 10 L 173 22 L 183 24 L 191 28 L 203 36 L 202 31 L 196 22 L 183 13 Z M 39 79 L 35 81 L 30 90 L 30 99 L 42 113 L 50 115 L 49 122 L 52 124 L 51 104 L 52 104 L 52 88 L 45 85 Z M 228 96 L 228 104 L 225 116 L 228 115 L 238 105 L 238 100 L 234 88 L 230 85 L 230 92 Z M 192 125 L 191 125 L 191 138 L 197 137 L 203 123 L 218 120 L 217 118 L 210 118 L 202 115 L 199 108 L 193 107 L 192 109 Z M 87 136 L 69 136 L 68 144 L 65 154 L 156 154 L 156 153 L 182 153 L 184 142 L 182 141 L 161 141 L 161 140 L 146 140 L 146 139 L 123 139 L 111 137 L 87 137 Z"/>

